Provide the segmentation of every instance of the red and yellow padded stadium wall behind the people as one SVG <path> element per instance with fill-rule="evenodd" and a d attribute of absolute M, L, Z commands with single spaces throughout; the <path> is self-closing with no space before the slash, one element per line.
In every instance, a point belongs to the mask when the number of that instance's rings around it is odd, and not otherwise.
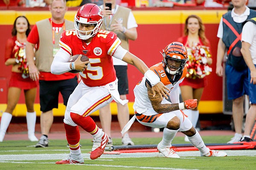
<path fill-rule="evenodd" d="M 207 76 L 207 86 L 199 104 L 200 113 L 222 113 L 222 77 L 215 74 L 216 54 L 218 38 L 218 23 L 222 14 L 226 10 L 153 10 L 153 11 L 133 11 L 134 17 L 138 24 L 138 38 L 136 41 L 130 41 L 130 51 L 140 57 L 148 66 L 154 65 L 162 61 L 160 51 L 170 42 L 176 41 L 178 37 L 183 35 L 184 22 L 190 14 L 196 14 L 201 17 L 205 28 L 206 36 L 210 40 L 212 49 L 213 63 L 212 73 Z M 73 21 L 76 11 L 67 11 L 65 19 Z M 6 40 L 11 37 L 12 25 L 17 16 L 24 15 L 28 18 L 33 26 L 39 20 L 51 17 L 49 11 L 0 11 L 0 116 L 6 109 L 8 82 L 11 75 L 11 66 L 4 65 L 4 51 Z M 129 110 L 133 114 L 134 94 L 133 88 L 143 77 L 137 69 L 128 65 L 129 79 Z M 58 109 L 54 109 L 54 116 L 63 116 L 65 106 L 62 104 L 60 95 L 60 104 Z M 35 111 L 40 115 L 39 91 L 35 101 Z M 116 104 L 111 103 L 111 111 L 113 115 L 117 114 Z M 98 115 L 98 112 L 93 115 Z M 17 107 L 13 113 L 14 116 L 26 116 L 26 105 L 23 93 L 20 96 Z"/>

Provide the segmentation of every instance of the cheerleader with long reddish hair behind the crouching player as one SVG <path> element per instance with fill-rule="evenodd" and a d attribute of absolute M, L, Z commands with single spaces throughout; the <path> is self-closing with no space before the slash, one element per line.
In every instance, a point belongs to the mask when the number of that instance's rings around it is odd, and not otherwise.
<path fill-rule="evenodd" d="M 184 26 L 185 36 L 178 39 L 178 42 L 182 42 L 188 51 L 188 61 L 186 62 L 188 73 L 180 83 L 183 101 L 197 99 L 198 103 L 200 102 L 204 87 L 207 85 L 205 76 L 212 71 L 212 68 L 209 67 L 212 64 L 209 52 L 210 43 L 204 32 L 201 18 L 197 15 L 189 15 Z M 199 117 L 198 107 L 193 110 L 185 109 L 184 113 L 196 127 Z M 189 142 L 187 136 L 185 136 L 185 141 Z"/>

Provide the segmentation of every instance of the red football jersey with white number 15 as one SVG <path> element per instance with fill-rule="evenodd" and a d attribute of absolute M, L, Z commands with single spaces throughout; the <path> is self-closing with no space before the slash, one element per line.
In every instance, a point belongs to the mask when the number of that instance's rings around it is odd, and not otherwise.
<path fill-rule="evenodd" d="M 121 44 L 121 40 L 111 31 L 100 30 L 86 44 L 76 36 L 75 29 L 62 33 L 59 46 L 70 56 L 84 54 L 89 57 L 88 68 L 80 72 L 84 84 L 95 87 L 106 85 L 116 80 L 112 55 Z"/>

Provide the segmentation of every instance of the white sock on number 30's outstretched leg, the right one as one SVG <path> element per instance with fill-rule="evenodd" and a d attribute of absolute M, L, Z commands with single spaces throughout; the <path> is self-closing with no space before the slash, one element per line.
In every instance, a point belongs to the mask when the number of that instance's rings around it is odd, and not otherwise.
<path fill-rule="evenodd" d="M 189 137 L 189 142 L 202 153 L 202 155 L 206 155 L 209 153 L 209 148 L 205 146 L 203 139 L 201 138 L 200 134 L 197 130 L 195 130 L 195 135 Z"/>

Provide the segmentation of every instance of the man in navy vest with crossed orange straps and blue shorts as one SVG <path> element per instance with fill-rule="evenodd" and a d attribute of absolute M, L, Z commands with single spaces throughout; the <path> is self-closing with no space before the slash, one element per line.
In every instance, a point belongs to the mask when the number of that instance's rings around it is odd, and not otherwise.
<path fill-rule="evenodd" d="M 242 23 L 256 17 L 256 11 L 249 9 L 247 0 L 232 0 L 234 8 L 221 17 L 217 37 L 216 74 L 223 76 L 222 62 L 227 50 L 225 74 L 227 79 L 227 96 L 233 101 L 232 113 L 235 126 L 235 136 L 227 143 L 239 142 L 242 137 L 244 116 L 244 94 L 248 93 L 248 71 L 241 49 Z M 234 78 L 236 77 L 236 78 Z"/>

